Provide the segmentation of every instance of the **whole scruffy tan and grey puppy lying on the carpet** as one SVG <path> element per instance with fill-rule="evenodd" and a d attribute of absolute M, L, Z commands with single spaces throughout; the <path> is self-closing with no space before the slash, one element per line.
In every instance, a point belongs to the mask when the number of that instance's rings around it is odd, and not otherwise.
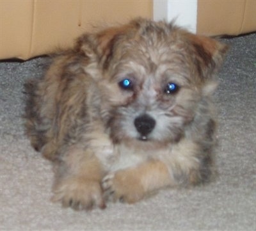
<path fill-rule="evenodd" d="M 81 36 L 26 84 L 26 133 L 56 166 L 54 201 L 73 209 L 138 202 L 208 182 L 211 95 L 226 46 L 136 19 Z"/>

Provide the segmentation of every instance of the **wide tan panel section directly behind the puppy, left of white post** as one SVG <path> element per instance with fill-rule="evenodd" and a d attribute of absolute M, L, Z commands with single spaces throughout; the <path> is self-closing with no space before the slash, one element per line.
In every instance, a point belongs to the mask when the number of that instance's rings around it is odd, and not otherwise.
<path fill-rule="evenodd" d="M 36 1 L 29 56 L 70 47 L 74 38 L 93 26 L 122 23 L 138 16 L 150 18 L 151 12 L 151 0 Z"/>

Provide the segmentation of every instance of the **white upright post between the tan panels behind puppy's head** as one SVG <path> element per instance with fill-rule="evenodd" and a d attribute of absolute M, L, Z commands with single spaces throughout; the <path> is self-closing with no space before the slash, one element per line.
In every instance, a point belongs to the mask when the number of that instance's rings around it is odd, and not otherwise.
<path fill-rule="evenodd" d="M 196 33 L 197 0 L 154 0 L 154 20 L 166 20 Z"/>

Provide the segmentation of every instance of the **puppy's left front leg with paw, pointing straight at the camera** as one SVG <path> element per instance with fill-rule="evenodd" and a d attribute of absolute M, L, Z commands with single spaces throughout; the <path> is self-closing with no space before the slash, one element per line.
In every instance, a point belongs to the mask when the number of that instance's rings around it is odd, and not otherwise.
<path fill-rule="evenodd" d="M 100 185 L 102 168 L 90 150 L 69 148 L 56 171 L 52 201 L 76 210 L 106 207 Z"/>

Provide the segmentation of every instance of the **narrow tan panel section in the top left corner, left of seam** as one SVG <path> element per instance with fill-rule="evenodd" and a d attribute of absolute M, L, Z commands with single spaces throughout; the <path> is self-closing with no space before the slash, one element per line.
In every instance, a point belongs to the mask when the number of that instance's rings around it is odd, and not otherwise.
<path fill-rule="evenodd" d="M 29 56 L 33 7 L 33 0 L 0 1 L 0 58 Z"/>

